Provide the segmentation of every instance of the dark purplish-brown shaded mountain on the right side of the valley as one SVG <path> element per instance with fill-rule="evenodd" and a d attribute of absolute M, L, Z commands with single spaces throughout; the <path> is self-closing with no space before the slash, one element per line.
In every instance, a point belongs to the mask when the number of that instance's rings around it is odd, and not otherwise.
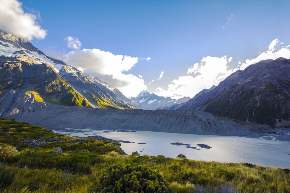
<path fill-rule="evenodd" d="M 201 91 L 179 109 L 272 126 L 290 125 L 290 60 L 262 60 Z"/>

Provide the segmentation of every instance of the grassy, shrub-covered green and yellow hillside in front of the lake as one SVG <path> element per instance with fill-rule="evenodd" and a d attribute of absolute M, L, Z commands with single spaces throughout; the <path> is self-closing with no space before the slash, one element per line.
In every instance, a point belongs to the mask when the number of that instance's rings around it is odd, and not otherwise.
<path fill-rule="evenodd" d="M 289 169 L 122 153 L 0 118 L 0 192 L 290 192 Z"/>

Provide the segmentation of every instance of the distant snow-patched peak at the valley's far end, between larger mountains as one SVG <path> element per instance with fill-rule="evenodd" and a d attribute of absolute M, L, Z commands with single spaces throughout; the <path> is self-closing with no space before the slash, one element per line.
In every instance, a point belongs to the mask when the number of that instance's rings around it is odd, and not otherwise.
<path fill-rule="evenodd" d="M 156 110 L 156 109 L 167 109 L 173 105 L 179 105 L 185 103 L 190 97 L 183 97 L 181 99 L 172 99 L 170 97 L 164 98 L 163 96 L 150 94 L 148 91 L 141 91 L 136 97 L 131 98 L 131 101 L 137 105 L 140 109 L 144 110 Z"/>

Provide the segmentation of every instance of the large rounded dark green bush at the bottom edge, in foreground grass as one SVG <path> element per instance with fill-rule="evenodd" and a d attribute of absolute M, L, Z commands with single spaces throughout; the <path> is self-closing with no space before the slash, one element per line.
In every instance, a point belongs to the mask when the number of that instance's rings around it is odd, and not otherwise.
<path fill-rule="evenodd" d="M 147 166 L 114 164 L 100 178 L 100 192 L 169 192 L 167 181 Z"/>

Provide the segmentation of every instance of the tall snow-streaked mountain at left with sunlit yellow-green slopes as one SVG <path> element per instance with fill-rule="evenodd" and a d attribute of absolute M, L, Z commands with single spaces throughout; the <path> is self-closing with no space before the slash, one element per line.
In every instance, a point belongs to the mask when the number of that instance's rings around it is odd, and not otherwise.
<path fill-rule="evenodd" d="M 0 31 L 0 76 L 0 97 L 17 92 L 57 105 L 138 109 L 118 89 L 4 31 Z"/>

